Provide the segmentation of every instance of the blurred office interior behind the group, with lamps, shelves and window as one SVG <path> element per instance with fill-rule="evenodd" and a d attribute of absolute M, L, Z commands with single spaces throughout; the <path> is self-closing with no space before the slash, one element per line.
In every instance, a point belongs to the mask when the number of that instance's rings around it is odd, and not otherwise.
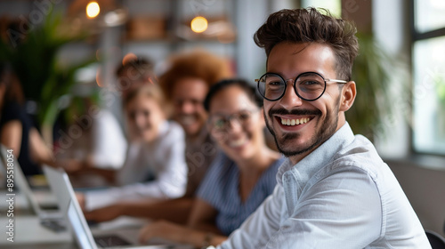
<path fill-rule="evenodd" d="M 99 9 L 86 12 L 90 2 Z M 28 112 L 52 141 L 48 125 L 72 96 L 99 92 L 101 108 L 122 120 L 115 70 L 129 53 L 154 61 L 161 74 L 170 55 L 203 48 L 255 84 L 266 60 L 255 30 L 271 12 L 306 6 L 356 23 L 358 107 L 348 118 L 375 142 L 424 228 L 445 235 L 445 1 L 2 0 L 0 30 L 17 50 L 35 38 L 13 60 Z M 8 32 L 12 21 L 19 32 Z"/>

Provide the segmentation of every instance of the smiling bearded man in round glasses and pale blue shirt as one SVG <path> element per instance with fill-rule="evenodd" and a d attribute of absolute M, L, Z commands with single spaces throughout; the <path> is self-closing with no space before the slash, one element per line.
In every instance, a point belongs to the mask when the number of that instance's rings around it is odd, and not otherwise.
<path fill-rule="evenodd" d="M 264 117 L 288 157 L 278 184 L 219 248 L 431 248 L 388 165 L 344 112 L 356 97 L 355 27 L 315 9 L 271 14 L 255 33 Z"/>

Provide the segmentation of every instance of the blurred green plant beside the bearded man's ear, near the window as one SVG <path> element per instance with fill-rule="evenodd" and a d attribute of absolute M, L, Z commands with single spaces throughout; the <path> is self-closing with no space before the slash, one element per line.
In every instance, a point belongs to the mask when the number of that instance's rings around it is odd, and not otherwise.
<path fill-rule="evenodd" d="M 409 73 L 400 61 L 384 51 L 371 35 L 358 34 L 360 50 L 352 68 L 352 80 L 357 84 L 357 97 L 346 119 L 354 133 L 374 141 L 392 122 L 395 108 L 403 106 L 409 116 Z M 398 84 L 396 91 L 392 87 Z M 399 111 L 399 109 L 398 109 Z M 388 124 L 391 125 L 391 124 Z"/>

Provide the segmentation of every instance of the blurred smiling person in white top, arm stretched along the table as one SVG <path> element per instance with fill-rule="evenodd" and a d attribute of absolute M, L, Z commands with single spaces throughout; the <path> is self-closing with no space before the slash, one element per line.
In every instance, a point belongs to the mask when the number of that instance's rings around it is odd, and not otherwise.
<path fill-rule="evenodd" d="M 179 124 L 166 120 L 166 103 L 158 84 L 129 92 L 125 115 L 135 138 L 130 141 L 125 165 L 115 175 L 117 188 L 79 195 L 85 210 L 122 200 L 164 200 L 182 197 L 187 184 L 185 139 Z"/>

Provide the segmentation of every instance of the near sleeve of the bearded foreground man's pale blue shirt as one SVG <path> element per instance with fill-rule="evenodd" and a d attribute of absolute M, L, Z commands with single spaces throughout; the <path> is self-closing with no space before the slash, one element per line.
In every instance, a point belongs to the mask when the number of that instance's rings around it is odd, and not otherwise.
<path fill-rule="evenodd" d="M 293 210 L 287 207 L 288 218 L 258 248 L 364 248 L 384 233 L 382 207 L 368 173 L 331 174 L 304 191 Z"/>

